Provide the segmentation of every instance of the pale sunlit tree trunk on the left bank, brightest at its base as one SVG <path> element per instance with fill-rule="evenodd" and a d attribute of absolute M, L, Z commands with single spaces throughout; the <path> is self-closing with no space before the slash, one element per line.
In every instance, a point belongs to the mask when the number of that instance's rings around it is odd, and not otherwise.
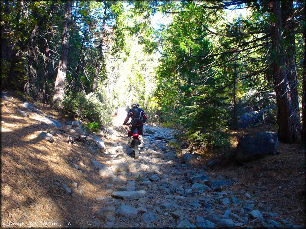
<path fill-rule="evenodd" d="M 66 2 L 65 16 L 64 16 L 64 28 L 62 38 L 62 53 L 58 64 L 58 73 L 55 80 L 53 103 L 57 103 L 57 106 L 62 105 L 64 99 L 64 89 L 67 73 L 67 60 L 68 60 L 68 49 L 69 49 L 69 30 L 70 30 L 70 18 L 71 18 L 71 7 L 69 1 Z"/>

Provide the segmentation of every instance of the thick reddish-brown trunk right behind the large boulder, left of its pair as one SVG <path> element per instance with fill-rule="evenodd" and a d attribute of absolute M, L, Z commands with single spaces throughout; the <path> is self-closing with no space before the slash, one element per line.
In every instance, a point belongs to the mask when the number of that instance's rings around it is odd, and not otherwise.
<path fill-rule="evenodd" d="M 273 58 L 274 91 L 276 93 L 278 139 L 284 143 L 293 143 L 297 140 L 295 115 L 293 114 L 293 99 L 286 75 L 285 50 L 282 43 L 282 17 L 279 1 L 270 2 L 271 13 L 274 16 L 271 27 Z"/>

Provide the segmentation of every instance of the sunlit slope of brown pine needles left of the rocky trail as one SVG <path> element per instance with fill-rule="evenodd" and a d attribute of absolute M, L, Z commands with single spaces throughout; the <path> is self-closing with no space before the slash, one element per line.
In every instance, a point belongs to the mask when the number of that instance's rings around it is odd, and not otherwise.
<path fill-rule="evenodd" d="M 90 152 L 88 143 L 70 147 L 65 141 L 70 133 L 64 122 L 62 128 L 50 128 L 34 116 L 21 117 L 15 109 L 21 107 L 19 100 L 4 102 L 6 107 L 1 105 L 1 120 L 5 122 L 1 131 L 2 225 L 4 222 L 25 223 L 21 227 L 59 227 L 41 225 L 44 222 L 60 223 L 60 227 L 68 222 L 73 227 L 90 225 L 96 220 L 93 213 L 103 207 L 95 198 L 107 198 L 111 192 L 106 191 L 106 184 L 113 184 L 110 178 L 98 176 L 90 160 L 103 163 L 106 159 L 99 157 L 99 152 Z M 42 104 L 37 106 L 42 108 Z M 45 113 L 63 120 L 50 107 L 45 108 Z M 40 130 L 52 133 L 54 143 L 41 139 Z M 79 162 L 88 165 L 86 169 L 80 166 L 83 172 L 74 166 Z M 63 183 L 70 186 L 72 182 L 77 182 L 84 190 L 83 196 L 74 189 L 69 196 L 61 187 Z"/>

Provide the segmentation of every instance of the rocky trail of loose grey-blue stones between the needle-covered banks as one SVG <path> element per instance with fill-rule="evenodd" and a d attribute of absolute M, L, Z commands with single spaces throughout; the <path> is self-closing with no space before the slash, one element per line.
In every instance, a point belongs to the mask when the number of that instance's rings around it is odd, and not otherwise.
<path fill-rule="evenodd" d="M 167 147 L 173 140 L 173 130 L 145 126 L 144 147 L 138 160 L 129 156 L 132 150 L 125 144 L 107 147 L 108 175 L 113 181 L 124 175 L 128 181 L 104 199 L 105 207 L 95 213 L 99 220 L 94 225 L 104 227 L 175 227 L 175 228 L 300 228 L 290 224 L 290 219 L 274 221 L 278 216 L 271 207 L 265 207 L 247 192 L 230 191 L 235 180 L 224 179 L 203 169 L 193 169 L 189 162 L 194 155 L 187 149 L 182 157 Z M 120 138 L 118 138 L 120 139 Z M 175 141 L 175 139 L 174 139 Z M 106 167 L 92 164 L 105 175 Z M 237 193 L 239 192 L 239 194 Z"/>

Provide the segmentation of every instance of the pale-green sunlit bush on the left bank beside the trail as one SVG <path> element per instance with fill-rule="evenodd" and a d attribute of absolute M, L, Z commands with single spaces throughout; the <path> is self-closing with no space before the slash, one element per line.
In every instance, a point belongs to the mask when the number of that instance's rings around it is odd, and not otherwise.
<path fill-rule="evenodd" d="M 62 102 L 63 110 L 72 112 L 75 117 L 97 122 L 99 125 L 110 125 L 112 107 L 107 106 L 96 93 L 70 93 Z"/>

